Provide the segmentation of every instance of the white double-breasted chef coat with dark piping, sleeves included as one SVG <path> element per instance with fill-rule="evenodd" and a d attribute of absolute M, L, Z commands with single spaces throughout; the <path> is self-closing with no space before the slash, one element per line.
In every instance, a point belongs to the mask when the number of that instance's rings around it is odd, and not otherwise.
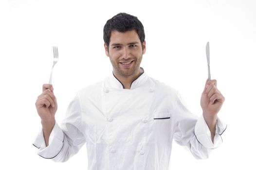
<path fill-rule="evenodd" d="M 40 156 L 63 162 L 86 143 L 88 170 L 168 170 L 173 139 L 204 159 L 225 129 L 218 119 L 213 144 L 203 117 L 191 114 L 175 89 L 146 73 L 124 89 L 111 75 L 77 93 L 48 147 L 42 131 L 33 144 Z"/>

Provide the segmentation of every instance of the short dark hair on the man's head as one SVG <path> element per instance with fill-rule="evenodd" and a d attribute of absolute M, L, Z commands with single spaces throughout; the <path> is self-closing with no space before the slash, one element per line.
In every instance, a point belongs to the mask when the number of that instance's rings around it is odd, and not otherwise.
<path fill-rule="evenodd" d="M 135 30 L 141 40 L 141 43 L 145 40 L 144 27 L 141 21 L 132 15 L 119 13 L 106 22 L 103 29 L 103 39 L 108 47 L 110 45 L 111 32 L 115 30 L 122 33 Z"/>

